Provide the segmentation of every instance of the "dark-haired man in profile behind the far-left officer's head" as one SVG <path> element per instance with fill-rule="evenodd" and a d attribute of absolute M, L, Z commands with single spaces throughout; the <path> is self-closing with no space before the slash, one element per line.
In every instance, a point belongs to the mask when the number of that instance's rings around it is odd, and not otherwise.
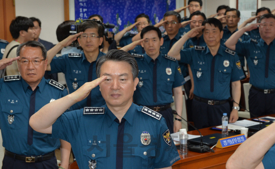
<path fill-rule="evenodd" d="M 45 46 L 45 48 L 47 50 L 50 50 L 54 45 L 51 42 L 48 41 L 44 41 L 42 39 L 39 38 L 40 36 L 40 32 L 41 32 L 41 21 L 38 18 L 35 17 L 31 17 L 30 19 L 32 19 L 32 21 L 34 22 L 34 41 L 38 41 L 41 44 L 43 44 Z"/>

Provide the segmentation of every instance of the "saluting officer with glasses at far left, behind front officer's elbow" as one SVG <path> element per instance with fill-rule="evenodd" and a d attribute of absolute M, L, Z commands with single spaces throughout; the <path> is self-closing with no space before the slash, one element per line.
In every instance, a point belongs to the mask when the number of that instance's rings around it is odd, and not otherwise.
<path fill-rule="evenodd" d="M 0 127 L 5 147 L 2 168 L 58 168 L 54 150 L 60 147 L 60 141 L 34 131 L 29 125 L 29 118 L 45 104 L 68 94 L 64 86 L 44 79 L 46 52 L 37 41 L 19 45 L 14 60 L 20 56 L 17 63 L 21 76 L 0 80 Z M 0 69 L 6 65 L 0 64 Z M 61 145 L 62 166 L 67 168 L 70 145 L 65 141 Z"/>

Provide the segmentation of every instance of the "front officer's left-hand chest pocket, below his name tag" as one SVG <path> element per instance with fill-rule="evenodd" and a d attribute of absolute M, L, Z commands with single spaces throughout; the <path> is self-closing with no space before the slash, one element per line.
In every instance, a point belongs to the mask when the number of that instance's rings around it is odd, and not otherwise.
<path fill-rule="evenodd" d="M 82 155 L 87 161 L 87 166 L 90 160 L 95 160 L 97 166 L 105 166 L 108 168 L 108 163 L 106 162 L 107 149 L 104 146 L 83 146 Z"/>

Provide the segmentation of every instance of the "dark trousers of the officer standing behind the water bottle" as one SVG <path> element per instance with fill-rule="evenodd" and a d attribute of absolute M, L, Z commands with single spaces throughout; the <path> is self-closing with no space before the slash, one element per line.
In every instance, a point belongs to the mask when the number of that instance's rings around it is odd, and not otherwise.
<path fill-rule="evenodd" d="M 230 106 L 227 102 L 223 105 L 208 105 L 193 99 L 192 102 L 193 121 L 198 129 L 216 125 L 222 125 L 222 117 L 227 113 L 230 117 Z"/>

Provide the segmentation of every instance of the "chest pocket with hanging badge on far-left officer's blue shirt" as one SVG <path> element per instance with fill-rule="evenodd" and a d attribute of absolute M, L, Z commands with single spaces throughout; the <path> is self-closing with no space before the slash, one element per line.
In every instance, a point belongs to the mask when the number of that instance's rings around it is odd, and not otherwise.
<path fill-rule="evenodd" d="M 6 124 L 10 129 L 19 129 L 28 122 L 29 124 L 29 112 L 28 118 L 22 114 L 23 106 L 16 104 L 6 104 L 2 107 L 3 118 L 6 119 Z M 27 113 L 27 112 L 26 112 Z"/>

